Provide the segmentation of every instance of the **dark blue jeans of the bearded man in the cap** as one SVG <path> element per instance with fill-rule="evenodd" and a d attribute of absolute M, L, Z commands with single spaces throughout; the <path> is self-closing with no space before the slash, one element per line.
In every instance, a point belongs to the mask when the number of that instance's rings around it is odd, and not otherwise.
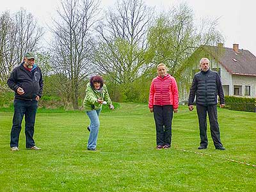
<path fill-rule="evenodd" d="M 19 147 L 19 136 L 21 131 L 21 123 L 25 115 L 25 135 L 26 148 L 35 146 L 33 140 L 34 125 L 36 118 L 37 101 L 36 100 L 14 100 L 14 115 L 11 131 L 11 147 Z"/>

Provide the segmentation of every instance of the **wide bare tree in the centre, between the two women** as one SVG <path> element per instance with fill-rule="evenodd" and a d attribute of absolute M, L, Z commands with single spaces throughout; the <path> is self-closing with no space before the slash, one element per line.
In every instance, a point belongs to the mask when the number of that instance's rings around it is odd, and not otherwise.
<path fill-rule="evenodd" d="M 147 68 L 147 29 L 152 10 L 142 0 L 117 1 L 98 26 L 100 35 L 93 61 L 118 84 L 131 83 Z"/>

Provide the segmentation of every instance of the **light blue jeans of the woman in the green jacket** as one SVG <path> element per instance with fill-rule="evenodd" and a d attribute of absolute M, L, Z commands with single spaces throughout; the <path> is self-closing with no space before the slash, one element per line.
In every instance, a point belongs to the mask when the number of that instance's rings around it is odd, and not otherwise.
<path fill-rule="evenodd" d="M 87 144 L 87 148 L 90 148 L 90 149 L 96 148 L 96 145 L 97 145 L 97 139 L 98 139 L 98 133 L 99 133 L 99 127 L 100 127 L 100 120 L 99 120 L 100 111 L 101 111 L 101 108 L 97 110 L 86 111 L 86 114 L 90 118 L 89 128 L 91 129 L 91 131 L 90 131 L 90 136 Z"/>

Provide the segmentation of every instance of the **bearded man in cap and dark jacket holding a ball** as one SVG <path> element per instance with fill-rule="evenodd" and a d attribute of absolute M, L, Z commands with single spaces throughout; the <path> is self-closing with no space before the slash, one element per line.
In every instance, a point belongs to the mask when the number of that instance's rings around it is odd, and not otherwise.
<path fill-rule="evenodd" d="M 7 84 L 15 92 L 11 150 L 19 150 L 19 135 L 24 115 L 26 148 L 40 150 L 41 148 L 35 146 L 33 135 L 36 109 L 38 100 L 42 97 L 44 83 L 41 69 L 35 64 L 33 52 L 26 53 L 24 61 L 13 69 Z"/>

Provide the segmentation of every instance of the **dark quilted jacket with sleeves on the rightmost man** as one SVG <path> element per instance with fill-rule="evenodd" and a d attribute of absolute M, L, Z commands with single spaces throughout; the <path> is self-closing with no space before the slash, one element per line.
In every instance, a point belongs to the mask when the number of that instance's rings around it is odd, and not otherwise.
<path fill-rule="evenodd" d="M 201 106 L 217 104 L 217 95 L 220 97 L 220 104 L 225 104 L 219 74 L 212 70 L 197 72 L 190 88 L 188 105 L 193 104 L 195 95 L 196 104 Z"/>

